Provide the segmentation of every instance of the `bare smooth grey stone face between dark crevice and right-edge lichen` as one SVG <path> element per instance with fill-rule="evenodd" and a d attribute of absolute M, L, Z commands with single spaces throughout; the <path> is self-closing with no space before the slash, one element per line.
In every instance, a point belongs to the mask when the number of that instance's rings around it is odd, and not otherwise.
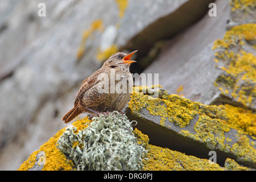
<path fill-rule="evenodd" d="M 216 1 L 217 16 L 204 16 L 186 31 L 168 41 L 144 73 L 159 73 L 159 84 L 171 93 L 182 85 L 185 98 L 210 104 L 220 90 L 213 85 L 223 71 L 215 68 L 213 42 L 226 32 L 228 1 Z"/>

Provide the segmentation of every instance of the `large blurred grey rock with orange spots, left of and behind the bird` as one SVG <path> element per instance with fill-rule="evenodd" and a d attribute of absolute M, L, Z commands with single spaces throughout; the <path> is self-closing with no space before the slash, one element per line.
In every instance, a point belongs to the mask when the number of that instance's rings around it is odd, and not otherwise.
<path fill-rule="evenodd" d="M 82 80 L 131 38 L 163 16 L 182 22 L 168 28 L 176 32 L 199 20 L 208 4 L 194 1 L 196 10 L 190 12 L 188 0 L 0 1 L 0 169 L 17 168 L 65 127 L 60 118 L 72 107 Z M 45 3 L 46 17 L 38 16 L 39 3 Z M 154 27 L 166 27 L 161 22 Z M 147 36 L 158 40 L 163 34 L 155 28 Z M 173 35 L 168 30 L 165 36 Z M 147 45 L 141 43 L 139 50 Z"/>

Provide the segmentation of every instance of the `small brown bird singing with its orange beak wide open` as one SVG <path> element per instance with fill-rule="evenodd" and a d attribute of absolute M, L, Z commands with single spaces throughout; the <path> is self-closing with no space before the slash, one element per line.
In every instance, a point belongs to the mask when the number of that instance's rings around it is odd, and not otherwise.
<path fill-rule="evenodd" d="M 75 98 L 74 107 L 62 118 L 65 123 L 81 113 L 98 115 L 124 109 L 133 89 L 133 77 L 129 71 L 131 56 L 123 52 L 114 53 L 100 69 L 86 78 Z"/>

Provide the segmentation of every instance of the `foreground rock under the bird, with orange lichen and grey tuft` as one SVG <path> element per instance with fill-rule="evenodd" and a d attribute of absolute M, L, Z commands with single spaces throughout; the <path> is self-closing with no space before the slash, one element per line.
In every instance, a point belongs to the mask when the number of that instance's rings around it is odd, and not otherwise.
<path fill-rule="evenodd" d="M 60 130 L 31 154 L 18 170 L 251 170 L 231 159 L 225 167 L 206 158 L 149 144 L 126 115 L 88 117 Z M 159 143 L 161 144 L 161 143 Z"/>

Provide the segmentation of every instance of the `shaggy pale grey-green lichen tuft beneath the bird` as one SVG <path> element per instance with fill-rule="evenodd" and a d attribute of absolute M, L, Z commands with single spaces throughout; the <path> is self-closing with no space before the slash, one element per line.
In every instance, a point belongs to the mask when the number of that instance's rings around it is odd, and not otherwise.
<path fill-rule="evenodd" d="M 77 170 L 140 170 L 147 151 L 137 143 L 132 123 L 121 113 L 93 117 L 84 130 L 66 128 L 58 147 Z"/>

